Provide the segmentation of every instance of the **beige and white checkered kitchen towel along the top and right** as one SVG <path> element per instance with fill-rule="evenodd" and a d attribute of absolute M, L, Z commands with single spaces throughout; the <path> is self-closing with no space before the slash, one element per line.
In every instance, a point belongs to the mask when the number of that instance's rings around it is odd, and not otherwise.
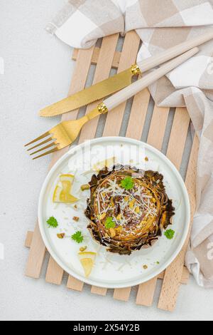
<path fill-rule="evenodd" d="M 213 29 L 213 0 L 70 0 L 48 24 L 65 43 L 89 48 L 97 38 L 136 29 L 138 60 Z M 200 138 L 197 212 L 186 264 L 213 287 L 213 41 L 150 87 L 160 106 L 186 106 Z"/>

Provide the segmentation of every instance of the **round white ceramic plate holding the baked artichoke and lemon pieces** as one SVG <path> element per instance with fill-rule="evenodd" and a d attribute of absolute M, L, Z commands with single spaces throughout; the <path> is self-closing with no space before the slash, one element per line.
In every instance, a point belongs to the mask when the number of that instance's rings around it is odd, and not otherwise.
<path fill-rule="evenodd" d="M 95 163 L 112 157 L 116 158 L 116 163 L 156 170 L 163 174 L 166 192 L 175 207 L 173 225 L 170 226 L 175 230 L 173 239 L 167 239 L 163 234 L 153 247 L 135 251 L 131 256 L 110 254 L 94 242 L 87 230 L 88 220 L 84 217 L 89 191 L 80 191 L 80 186 L 91 179 Z M 73 205 L 56 205 L 52 201 L 55 185 L 62 173 L 75 174 L 72 195 L 81 199 L 77 203 L 77 210 Z M 59 225 L 55 229 L 49 228 L 46 223 L 50 216 L 58 220 Z M 80 217 L 79 222 L 72 220 L 74 216 Z M 131 287 L 157 276 L 177 257 L 190 226 L 190 202 L 178 170 L 160 151 L 130 138 L 97 138 L 72 148 L 50 170 L 40 192 L 38 220 L 45 246 L 65 272 L 97 287 Z M 81 230 L 84 235 L 82 244 L 70 238 L 77 230 Z M 59 232 L 65 232 L 66 237 L 58 239 Z M 97 252 L 94 269 L 88 279 L 84 277 L 77 257 L 79 248 L 84 245 L 87 245 L 87 251 Z M 147 269 L 144 269 L 144 265 Z"/>

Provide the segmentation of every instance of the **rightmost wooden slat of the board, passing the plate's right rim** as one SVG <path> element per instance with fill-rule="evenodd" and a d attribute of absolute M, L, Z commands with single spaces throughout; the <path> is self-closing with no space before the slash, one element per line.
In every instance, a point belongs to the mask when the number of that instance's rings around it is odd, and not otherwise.
<path fill-rule="evenodd" d="M 191 203 L 191 227 L 193 215 L 195 213 L 195 183 L 196 183 L 196 167 L 197 167 L 197 154 L 199 148 L 199 140 L 195 135 L 192 151 L 190 155 L 190 163 L 187 169 L 186 185 L 190 195 Z M 163 287 L 160 293 L 158 308 L 165 311 L 173 311 L 175 309 L 176 301 L 178 298 L 178 290 L 180 287 L 180 278 L 182 277 L 182 267 L 185 259 L 185 252 L 190 239 L 190 232 L 185 241 L 182 251 L 175 259 L 173 264 L 165 270 L 165 277 L 163 279 Z"/>

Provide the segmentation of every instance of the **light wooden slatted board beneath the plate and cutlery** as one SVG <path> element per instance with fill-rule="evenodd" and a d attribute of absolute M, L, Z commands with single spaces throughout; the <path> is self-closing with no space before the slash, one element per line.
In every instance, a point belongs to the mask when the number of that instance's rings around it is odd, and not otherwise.
<path fill-rule="evenodd" d="M 97 83 L 108 78 L 112 68 L 116 68 L 117 71 L 120 72 L 135 63 L 138 48 L 140 46 L 140 39 L 138 38 L 138 35 L 134 31 L 127 33 L 124 38 L 121 52 L 116 50 L 118 41 L 119 34 L 115 34 L 103 38 L 100 47 L 93 47 L 88 50 L 74 50 L 72 59 L 76 61 L 76 66 L 72 76 L 69 95 L 76 93 L 77 91 L 81 91 L 84 88 L 87 83 L 89 69 L 92 65 L 96 66 L 93 83 Z M 153 145 L 155 148 L 158 148 L 158 150 L 161 150 L 163 147 L 165 132 L 168 128 L 170 108 L 159 108 L 155 105 L 153 110 L 150 110 L 150 108 L 148 108 L 150 101 L 151 96 L 148 89 L 138 93 L 133 98 L 131 112 L 129 114 L 129 123 L 126 128 L 126 137 L 141 140 L 143 127 L 146 124 L 146 120 L 151 116 L 147 143 Z M 95 105 L 97 105 L 97 103 L 89 105 L 86 113 L 94 108 Z M 129 113 L 126 111 L 126 103 L 123 103 L 122 105 L 119 105 L 118 108 L 115 108 L 107 114 L 107 118 L 104 120 L 105 125 L 102 134 L 103 136 L 120 135 L 125 112 Z M 79 110 L 75 110 L 71 113 L 62 115 L 62 120 L 74 120 L 77 118 L 78 113 Z M 102 115 L 102 118 L 105 118 L 105 116 Z M 80 134 L 79 143 L 84 142 L 84 140 L 94 138 L 97 133 L 98 125 L 99 118 L 96 118 L 85 125 Z M 173 125 L 170 130 L 167 156 L 178 169 L 180 169 L 182 163 L 189 125 L 190 118 L 187 110 L 185 108 L 176 108 Z M 195 135 L 185 180 L 187 190 L 190 194 L 192 217 L 195 212 L 195 179 L 198 145 L 198 139 Z M 67 152 L 67 150 L 68 148 L 65 148 L 58 153 L 54 153 L 49 168 L 51 168 L 58 158 Z M 175 309 L 180 284 L 187 284 L 189 279 L 189 272 L 184 266 L 185 252 L 189 242 L 189 237 L 190 234 L 187 237 L 187 241 L 185 242 L 182 252 L 180 252 L 173 264 L 171 264 L 165 272 L 161 273 L 158 278 L 154 278 L 151 281 L 137 287 L 136 304 L 151 306 L 153 304 L 157 280 L 163 279 L 158 308 L 166 311 L 173 311 L 173 309 Z M 35 231 L 27 233 L 25 245 L 30 248 L 26 266 L 26 276 L 39 278 L 41 269 L 43 268 L 46 249 L 40 236 L 38 222 L 35 225 Z M 63 274 L 63 270 L 55 263 L 54 259 L 50 257 L 48 267 L 46 269 L 46 281 L 60 285 L 62 283 Z M 68 277 L 67 288 L 82 291 L 83 286 L 84 283 L 72 276 Z M 107 289 L 91 287 L 91 292 L 92 294 L 105 296 L 107 294 Z M 130 294 L 131 287 L 126 289 L 114 289 L 114 299 L 128 301 Z"/>

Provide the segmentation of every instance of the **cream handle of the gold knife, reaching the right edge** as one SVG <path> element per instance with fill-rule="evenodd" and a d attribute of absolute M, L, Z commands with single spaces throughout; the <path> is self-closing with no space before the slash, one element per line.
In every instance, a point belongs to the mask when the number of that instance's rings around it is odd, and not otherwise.
<path fill-rule="evenodd" d="M 168 50 L 162 51 L 158 53 L 156 56 L 152 56 L 149 58 L 144 59 L 141 62 L 138 62 L 138 67 L 140 68 L 141 72 L 145 72 L 151 70 L 155 66 L 165 63 L 166 61 L 170 61 L 174 57 L 185 53 L 186 51 L 195 48 L 195 46 L 200 46 L 200 44 L 205 43 L 213 38 L 213 30 L 209 31 L 208 33 L 203 33 L 200 36 L 195 38 L 191 38 L 189 41 L 185 41 L 180 43 L 172 48 L 168 48 Z"/>

